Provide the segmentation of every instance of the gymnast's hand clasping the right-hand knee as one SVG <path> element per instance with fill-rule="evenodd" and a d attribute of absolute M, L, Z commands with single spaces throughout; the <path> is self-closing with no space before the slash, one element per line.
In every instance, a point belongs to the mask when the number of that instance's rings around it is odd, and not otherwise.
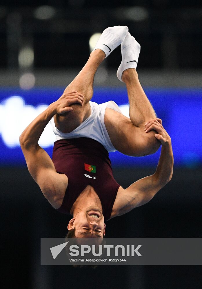
<path fill-rule="evenodd" d="M 154 136 L 161 142 L 162 145 L 171 144 L 171 138 L 164 129 L 161 118 L 154 118 L 145 123 L 145 132 L 149 132 L 151 130 L 155 130 L 157 132 L 157 134 Z"/>

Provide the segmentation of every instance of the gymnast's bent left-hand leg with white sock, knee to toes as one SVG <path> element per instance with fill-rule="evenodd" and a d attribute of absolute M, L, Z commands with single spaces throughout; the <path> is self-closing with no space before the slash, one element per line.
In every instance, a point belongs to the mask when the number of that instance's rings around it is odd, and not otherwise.
<path fill-rule="evenodd" d="M 63 133 L 68 133 L 78 127 L 88 116 L 91 108 L 89 101 L 93 93 L 93 80 L 98 66 L 101 62 L 121 44 L 128 32 L 127 26 L 114 26 L 106 28 L 100 36 L 96 47 L 90 54 L 87 63 L 77 75 L 77 77 L 68 85 L 64 93 L 77 91 L 84 96 L 84 105 L 72 105 L 71 112 L 54 116 L 56 127 Z"/>

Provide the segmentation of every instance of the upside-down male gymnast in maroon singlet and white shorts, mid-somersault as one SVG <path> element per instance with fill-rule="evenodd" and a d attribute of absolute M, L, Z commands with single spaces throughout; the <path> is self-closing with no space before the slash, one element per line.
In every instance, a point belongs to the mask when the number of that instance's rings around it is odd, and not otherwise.
<path fill-rule="evenodd" d="M 101 62 L 121 44 L 117 77 L 125 82 L 130 104 L 127 118 L 114 101 L 90 101 Z M 63 95 L 35 118 L 20 136 L 28 170 L 49 203 L 70 214 L 68 237 L 105 235 L 104 220 L 141 206 L 170 181 L 171 139 L 146 97 L 136 72 L 140 45 L 127 26 L 105 29 L 90 57 Z M 51 122 L 56 135 L 52 160 L 38 140 Z M 156 172 L 123 189 L 112 175 L 109 151 L 143 156 L 162 144 Z"/>

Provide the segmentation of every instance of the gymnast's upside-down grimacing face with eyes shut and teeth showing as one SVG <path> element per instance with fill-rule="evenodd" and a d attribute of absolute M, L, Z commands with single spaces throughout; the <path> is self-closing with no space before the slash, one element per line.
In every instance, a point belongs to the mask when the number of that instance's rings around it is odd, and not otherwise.
<path fill-rule="evenodd" d="M 105 227 L 102 210 L 98 207 L 88 207 L 77 213 L 67 228 L 75 228 L 76 238 L 103 238 Z"/>

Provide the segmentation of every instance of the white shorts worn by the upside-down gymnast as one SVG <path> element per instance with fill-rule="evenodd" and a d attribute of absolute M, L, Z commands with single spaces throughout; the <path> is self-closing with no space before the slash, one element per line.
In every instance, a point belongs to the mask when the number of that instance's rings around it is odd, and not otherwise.
<path fill-rule="evenodd" d="M 100 142 L 107 151 L 116 151 L 105 127 L 104 115 L 106 108 L 112 108 L 122 114 L 120 108 L 112 100 L 101 104 L 97 104 L 93 101 L 89 101 L 89 103 L 91 106 L 91 115 L 68 134 L 64 134 L 57 129 L 53 118 L 50 120 L 53 132 L 56 135 L 56 140 L 68 138 L 92 138 Z"/>

